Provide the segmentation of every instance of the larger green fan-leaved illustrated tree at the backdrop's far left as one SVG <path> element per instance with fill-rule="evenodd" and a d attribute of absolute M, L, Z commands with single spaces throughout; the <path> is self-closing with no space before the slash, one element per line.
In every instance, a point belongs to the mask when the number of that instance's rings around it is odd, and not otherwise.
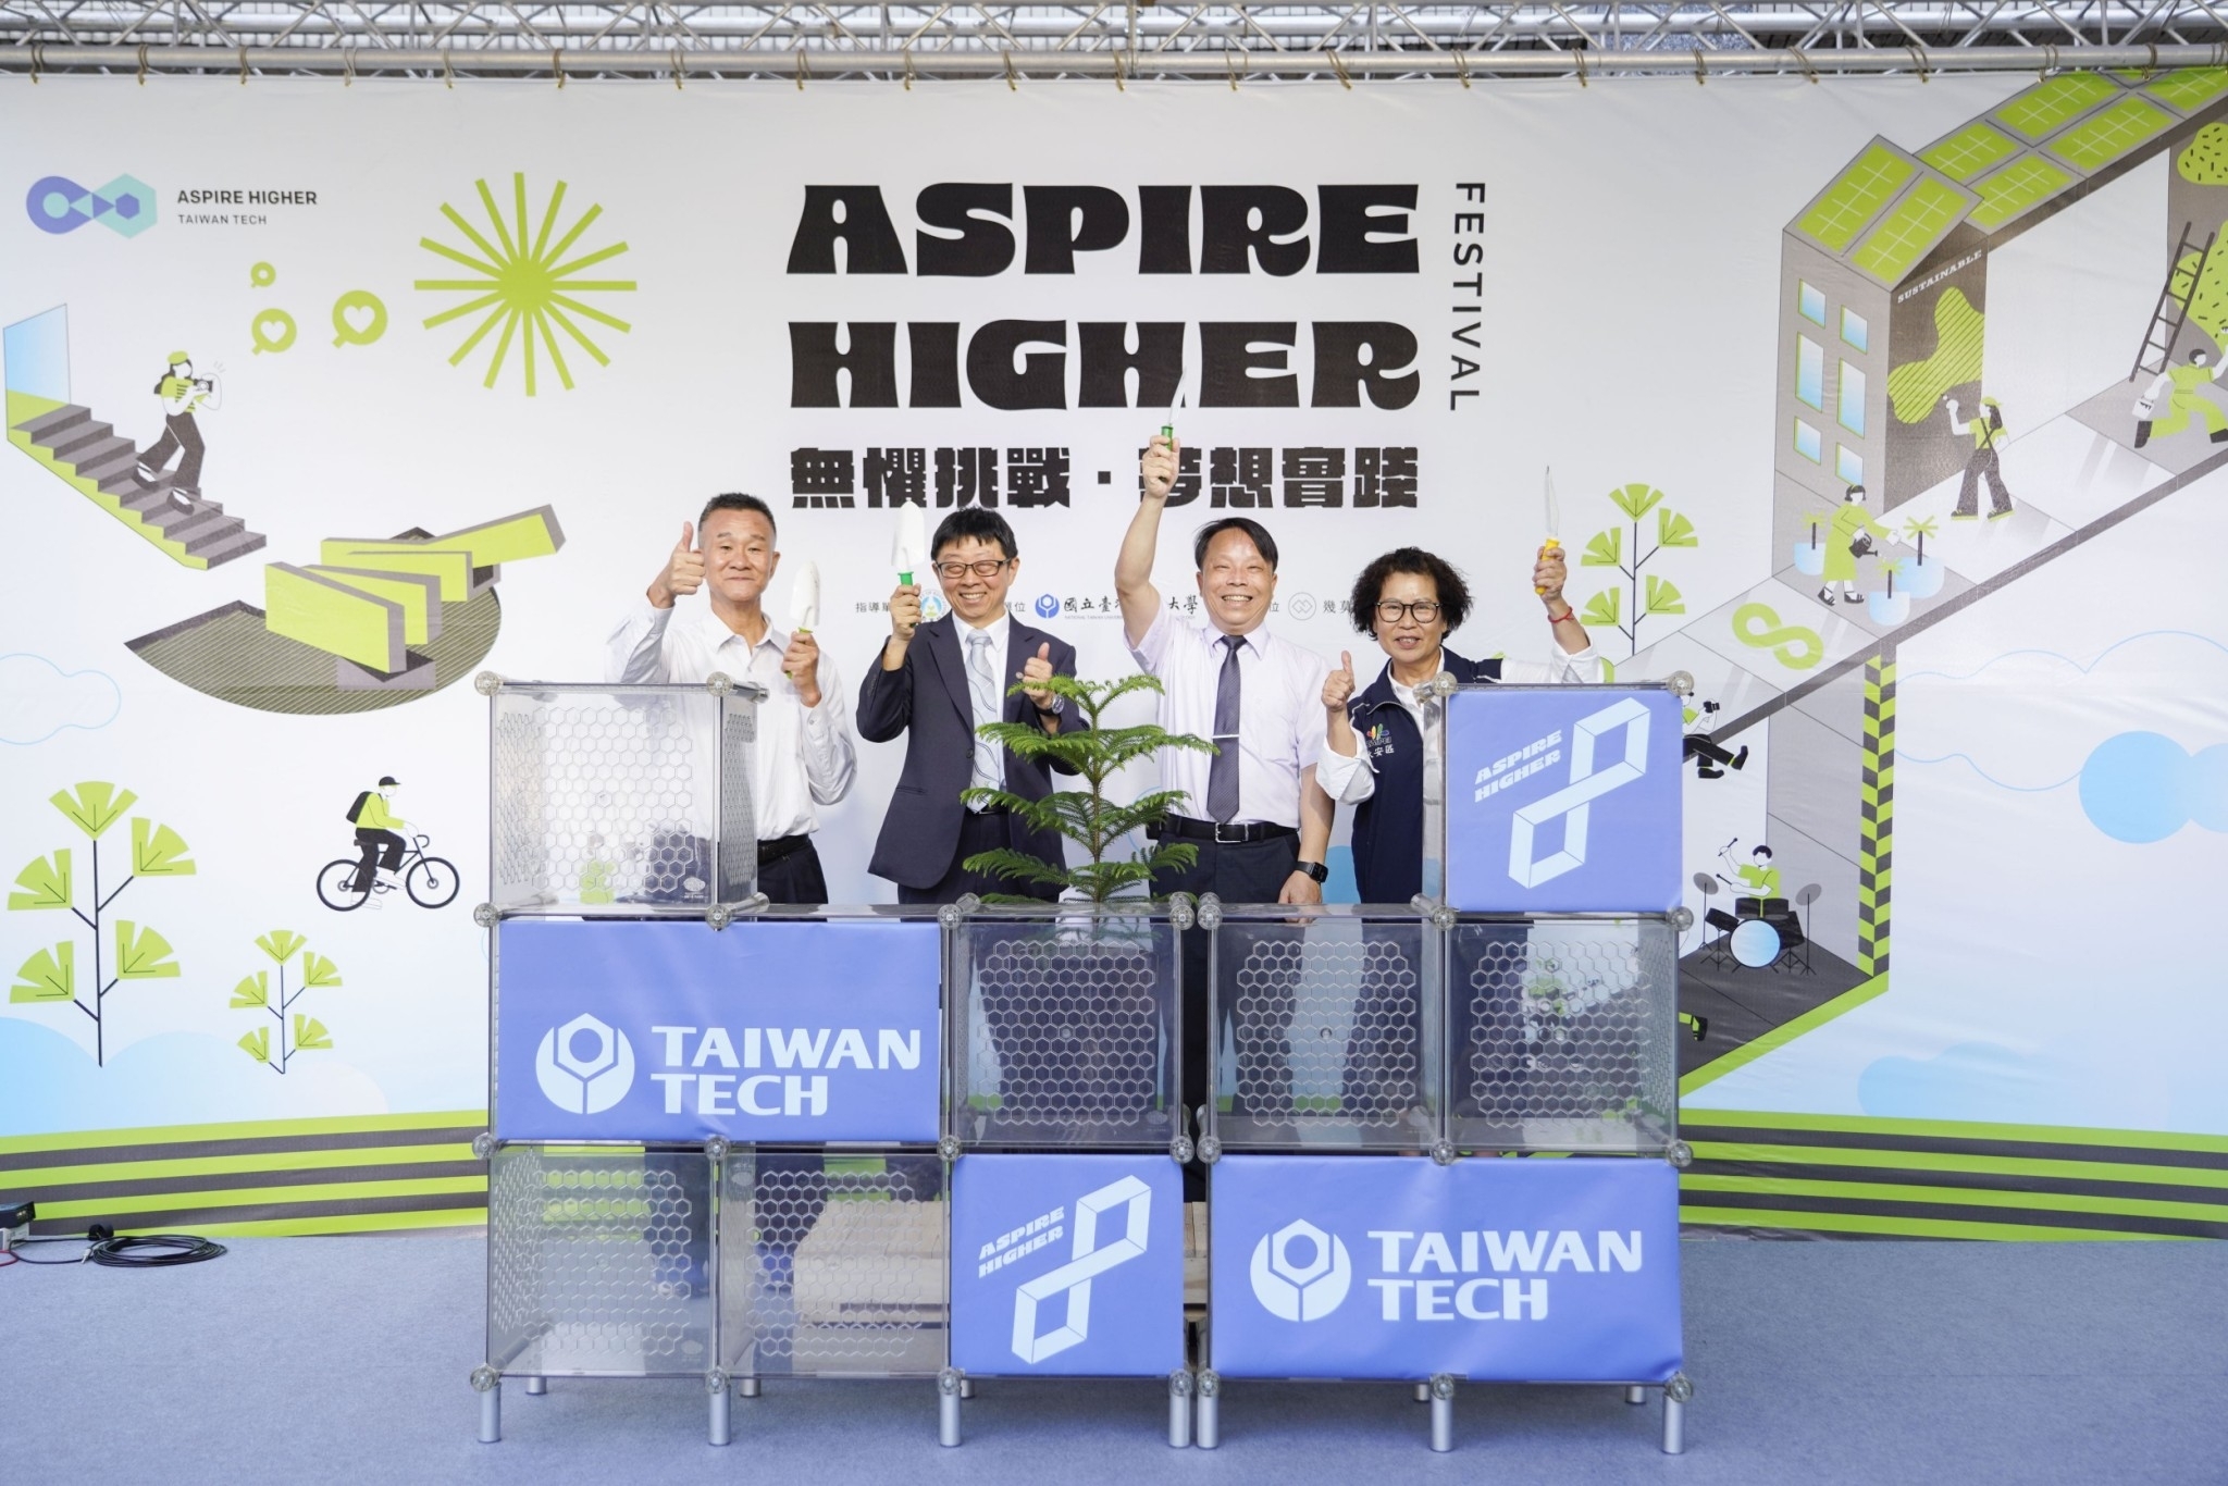
<path fill-rule="evenodd" d="M 140 878 L 189 878 L 194 876 L 194 862 L 185 856 L 187 844 L 165 824 L 156 824 L 145 815 L 131 818 L 131 858 L 127 862 L 125 880 L 118 882 L 107 893 L 100 891 L 100 838 L 125 818 L 138 802 L 129 789 L 118 789 L 102 782 L 82 782 L 74 791 L 65 789 L 51 795 L 49 804 L 62 811 L 62 815 L 85 831 L 91 840 L 91 889 L 85 898 L 89 909 L 78 907 L 78 882 L 76 864 L 71 860 L 69 847 L 58 847 L 53 853 L 38 858 L 29 867 L 16 873 L 16 887 L 22 891 L 9 893 L 9 911 L 56 911 L 74 913 L 78 922 L 91 929 L 91 962 L 94 974 L 89 980 L 78 980 L 78 940 L 67 938 L 58 945 L 36 951 L 16 969 L 16 985 L 9 987 L 9 1000 L 16 1005 L 74 1005 L 94 1023 L 94 1063 L 107 1063 L 107 996 L 125 980 L 174 980 L 178 976 L 178 962 L 172 958 L 169 940 L 165 940 L 154 929 L 145 929 L 129 918 L 109 920 L 109 905 L 116 902 L 127 887 Z M 111 954 L 102 954 L 102 947 Z M 114 969 L 114 974 L 109 974 Z"/>

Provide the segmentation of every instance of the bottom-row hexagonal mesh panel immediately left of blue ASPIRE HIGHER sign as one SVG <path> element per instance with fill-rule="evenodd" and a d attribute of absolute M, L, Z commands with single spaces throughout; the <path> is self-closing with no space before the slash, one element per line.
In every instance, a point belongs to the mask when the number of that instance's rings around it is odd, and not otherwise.
<path fill-rule="evenodd" d="M 722 1192 L 722 1366 L 760 1377 L 945 1366 L 938 1156 L 735 1150 Z"/>

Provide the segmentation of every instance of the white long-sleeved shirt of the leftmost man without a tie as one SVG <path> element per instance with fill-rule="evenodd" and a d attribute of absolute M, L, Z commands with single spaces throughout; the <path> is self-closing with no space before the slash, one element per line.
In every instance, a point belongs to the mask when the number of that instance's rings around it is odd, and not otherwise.
<path fill-rule="evenodd" d="M 820 706 L 804 706 L 795 682 L 782 675 L 789 635 L 766 626 L 753 646 L 726 628 L 711 604 L 657 608 L 648 599 L 610 633 L 606 680 L 624 684 L 695 684 L 713 671 L 766 691 L 758 704 L 758 742 L 751 746 L 751 804 L 758 840 L 804 835 L 820 824 L 815 804 L 836 804 L 851 791 L 858 749 L 851 742 L 851 706 L 844 702 L 836 662 L 820 651 Z M 717 757 L 717 740 L 700 753 Z"/>

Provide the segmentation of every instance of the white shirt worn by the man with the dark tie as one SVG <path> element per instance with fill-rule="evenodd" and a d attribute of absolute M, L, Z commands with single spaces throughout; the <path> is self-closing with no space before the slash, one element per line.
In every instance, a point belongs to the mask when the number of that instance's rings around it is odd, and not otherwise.
<path fill-rule="evenodd" d="M 1161 610 L 1130 655 L 1161 677 L 1161 726 L 1214 737 L 1214 686 L 1223 673 L 1223 633 Z M 1239 813 L 1232 824 L 1268 822 L 1299 829 L 1299 775 L 1323 751 L 1323 677 L 1330 664 L 1315 651 L 1266 628 L 1239 648 Z M 1161 789 L 1181 789 L 1179 815 L 1208 820 L 1212 753 L 1161 749 Z"/>

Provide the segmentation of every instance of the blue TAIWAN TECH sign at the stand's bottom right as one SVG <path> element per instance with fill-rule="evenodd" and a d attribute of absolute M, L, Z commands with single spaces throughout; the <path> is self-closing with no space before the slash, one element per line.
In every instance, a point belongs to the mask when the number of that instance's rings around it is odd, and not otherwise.
<path fill-rule="evenodd" d="M 1678 1174 L 1662 1161 L 1230 1156 L 1212 1196 L 1219 1372 L 1678 1372 Z"/>

